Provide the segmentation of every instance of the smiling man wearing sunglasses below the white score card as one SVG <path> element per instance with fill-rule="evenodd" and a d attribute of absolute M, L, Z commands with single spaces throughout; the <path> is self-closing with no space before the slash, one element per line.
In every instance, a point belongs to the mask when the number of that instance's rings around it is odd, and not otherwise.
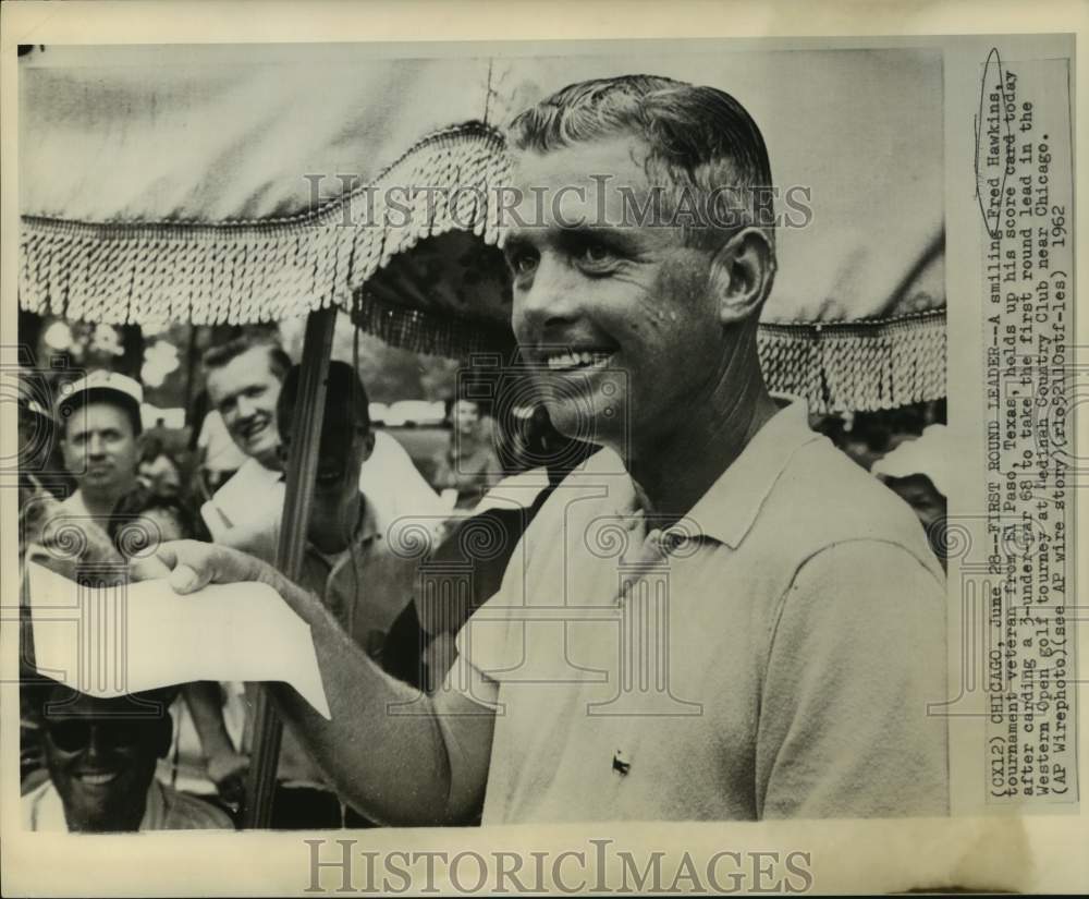
<path fill-rule="evenodd" d="M 233 829 L 225 812 L 155 778 L 175 690 L 103 700 L 46 681 L 32 693 L 49 779 L 22 799 L 25 829 Z"/>

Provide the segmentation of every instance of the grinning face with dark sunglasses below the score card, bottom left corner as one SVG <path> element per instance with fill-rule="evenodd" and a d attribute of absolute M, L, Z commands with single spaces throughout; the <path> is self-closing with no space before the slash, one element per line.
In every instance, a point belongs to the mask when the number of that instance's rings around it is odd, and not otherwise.
<path fill-rule="evenodd" d="M 134 717 L 134 706 L 81 695 L 47 709 L 42 746 L 71 829 L 135 830 L 170 740 L 170 718 Z"/>

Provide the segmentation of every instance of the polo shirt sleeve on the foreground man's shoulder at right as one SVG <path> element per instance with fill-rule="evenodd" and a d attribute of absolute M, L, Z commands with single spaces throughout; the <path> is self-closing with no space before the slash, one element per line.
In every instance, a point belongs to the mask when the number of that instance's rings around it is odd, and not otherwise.
<path fill-rule="evenodd" d="M 760 817 L 949 813 L 944 584 L 892 543 L 836 544 L 783 597 L 757 736 Z"/>

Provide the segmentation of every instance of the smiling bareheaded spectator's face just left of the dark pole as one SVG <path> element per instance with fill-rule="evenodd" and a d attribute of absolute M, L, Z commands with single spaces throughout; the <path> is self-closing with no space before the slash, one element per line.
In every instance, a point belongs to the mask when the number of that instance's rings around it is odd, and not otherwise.
<path fill-rule="evenodd" d="M 272 373 L 268 350 L 254 347 L 212 368 L 207 387 L 238 449 L 259 462 L 274 462 L 280 442 L 276 428 L 280 379 Z"/>

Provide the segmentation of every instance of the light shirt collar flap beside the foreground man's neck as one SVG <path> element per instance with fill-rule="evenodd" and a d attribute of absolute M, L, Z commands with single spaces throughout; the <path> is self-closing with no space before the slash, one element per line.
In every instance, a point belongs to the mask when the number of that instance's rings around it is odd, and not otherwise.
<path fill-rule="evenodd" d="M 805 400 L 775 394 L 780 410 L 715 481 L 686 518 L 699 533 L 736 549 L 791 457 L 820 438 L 809 428 Z"/>

